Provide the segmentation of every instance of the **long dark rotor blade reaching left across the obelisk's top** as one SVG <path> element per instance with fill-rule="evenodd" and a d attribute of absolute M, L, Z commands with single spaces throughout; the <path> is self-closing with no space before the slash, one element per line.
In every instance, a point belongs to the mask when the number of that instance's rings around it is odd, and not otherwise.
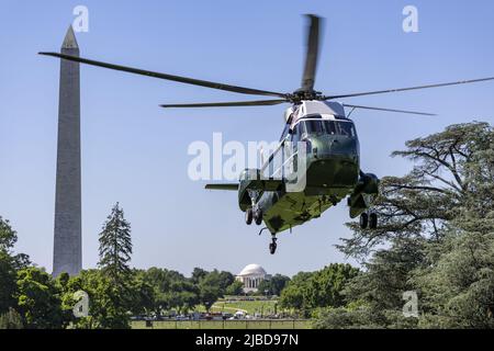
<path fill-rule="evenodd" d="M 242 94 L 268 95 L 268 97 L 278 97 L 278 98 L 287 97 L 287 94 L 283 94 L 281 92 L 228 86 L 228 84 L 217 83 L 217 82 L 207 81 L 207 80 L 199 80 L 199 79 L 193 79 L 193 78 L 172 76 L 172 75 L 160 73 L 160 72 L 155 72 L 155 71 L 150 71 L 150 70 L 133 68 L 133 67 L 96 61 L 92 59 L 76 57 L 76 56 L 71 56 L 71 55 L 64 55 L 64 54 L 58 54 L 58 53 L 38 53 L 38 54 L 45 55 L 45 56 L 64 58 L 64 59 L 68 59 L 71 61 L 77 61 L 77 63 L 87 64 L 87 65 L 91 65 L 91 66 L 98 66 L 98 67 L 103 67 L 103 68 L 109 68 L 109 69 L 114 69 L 114 70 L 121 70 L 124 72 L 142 75 L 142 76 L 147 76 L 147 77 L 154 77 L 154 78 L 159 78 L 159 79 L 172 80 L 172 81 L 178 81 L 178 82 L 186 83 L 186 84 L 200 86 L 200 87 L 205 87 L 205 88 L 238 92 Z"/>

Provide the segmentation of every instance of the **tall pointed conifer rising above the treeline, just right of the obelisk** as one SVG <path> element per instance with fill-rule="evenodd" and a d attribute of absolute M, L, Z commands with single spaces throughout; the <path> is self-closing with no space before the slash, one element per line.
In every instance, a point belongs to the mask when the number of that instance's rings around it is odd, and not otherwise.
<path fill-rule="evenodd" d="M 100 267 L 102 273 L 113 283 L 124 285 L 131 268 L 128 262 L 132 254 L 131 224 L 125 220 L 124 212 L 119 203 L 100 233 Z"/>

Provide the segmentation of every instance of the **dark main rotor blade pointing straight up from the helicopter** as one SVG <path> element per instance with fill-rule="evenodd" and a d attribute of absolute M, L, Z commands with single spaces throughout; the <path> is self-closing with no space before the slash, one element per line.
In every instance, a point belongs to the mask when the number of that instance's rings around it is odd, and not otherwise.
<path fill-rule="evenodd" d="M 305 54 L 304 75 L 302 77 L 302 90 L 313 91 L 319 52 L 319 22 L 322 22 L 322 19 L 314 14 L 307 14 L 307 16 L 311 24 L 307 27 L 307 52 Z"/>

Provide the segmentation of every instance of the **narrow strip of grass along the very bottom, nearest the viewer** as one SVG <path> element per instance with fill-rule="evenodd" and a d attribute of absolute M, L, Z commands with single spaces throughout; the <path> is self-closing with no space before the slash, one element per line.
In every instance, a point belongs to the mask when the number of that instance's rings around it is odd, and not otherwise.
<path fill-rule="evenodd" d="M 146 326 L 133 321 L 133 329 L 311 329 L 311 320 L 160 320 Z"/>

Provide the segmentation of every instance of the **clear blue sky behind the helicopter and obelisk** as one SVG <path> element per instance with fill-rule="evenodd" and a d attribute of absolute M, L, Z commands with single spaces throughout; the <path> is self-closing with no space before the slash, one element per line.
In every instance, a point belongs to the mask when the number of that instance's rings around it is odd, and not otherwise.
<path fill-rule="evenodd" d="M 89 9 L 81 56 L 169 73 L 292 91 L 302 71 L 303 13 L 327 19 L 316 88 L 346 93 L 494 76 L 492 1 L 2 1 L 0 8 L 0 215 L 18 250 L 52 269 L 58 109 L 58 50 L 72 9 Z M 402 10 L 419 11 L 419 33 Z M 358 112 L 362 168 L 378 176 L 411 167 L 390 152 L 404 141 L 472 120 L 494 122 L 494 83 L 368 97 L 352 103 L 440 113 L 439 117 Z M 244 224 L 235 193 L 209 192 L 187 177 L 193 140 L 272 140 L 283 106 L 169 110 L 166 102 L 243 95 L 81 67 L 83 267 L 98 261 L 98 233 L 120 202 L 133 226 L 133 264 L 239 271 L 260 263 L 294 274 L 345 262 L 334 245 L 349 236 L 341 204 L 281 234 Z"/>

